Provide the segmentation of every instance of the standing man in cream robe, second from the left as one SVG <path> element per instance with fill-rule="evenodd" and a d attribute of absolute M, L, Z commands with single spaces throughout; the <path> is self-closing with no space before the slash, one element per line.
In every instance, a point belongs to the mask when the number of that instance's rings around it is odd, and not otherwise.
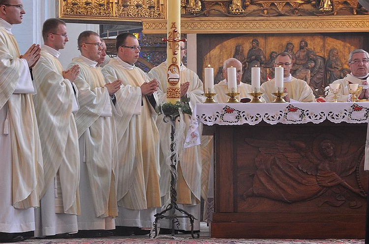
<path fill-rule="evenodd" d="M 72 82 L 79 73 L 75 65 L 62 70 L 59 50 L 68 41 L 66 25 L 48 19 L 42 28 L 41 57 L 33 67 L 37 94 L 33 96 L 44 162 L 45 188 L 35 210 L 36 237 L 77 232 L 79 213 L 79 148 L 72 112 L 78 110 Z M 57 186 L 57 187 L 55 187 Z"/>

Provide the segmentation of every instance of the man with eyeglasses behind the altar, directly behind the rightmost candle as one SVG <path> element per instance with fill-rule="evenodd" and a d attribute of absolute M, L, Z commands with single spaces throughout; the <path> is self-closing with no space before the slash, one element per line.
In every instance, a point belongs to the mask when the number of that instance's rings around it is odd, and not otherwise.
<path fill-rule="evenodd" d="M 315 102 L 314 94 L 307 82 L 296 79 L 290 74 L 292 67 L 292 56 L 290 54 L 284 52 L 277 54 L 274 66 L 283 67 L 284 92 L 288 93 L 284 97 L 286 102 Z M 275 79 L 262 83 L 260 90 L 264 93 L 263 97 L 267 103 L 272 102 L 275 99 L 272 93 L 276 92 Z"/>

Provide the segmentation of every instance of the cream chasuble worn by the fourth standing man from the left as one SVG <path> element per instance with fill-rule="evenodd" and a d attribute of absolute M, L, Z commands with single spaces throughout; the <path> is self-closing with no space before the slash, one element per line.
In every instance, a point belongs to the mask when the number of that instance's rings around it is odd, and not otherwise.
<path fill-rule="evenodd" d="M 106 82 L 120 79 L 123 83 L 116 93 L 122 116 L 115 116 L 119 148 L 118 205 L 131 210 L 160 207 L 159 135 L 153 108 L 140 88 L 150 79 L 141 69 L 119 57 L 111 59 L 102 72 Z"/>

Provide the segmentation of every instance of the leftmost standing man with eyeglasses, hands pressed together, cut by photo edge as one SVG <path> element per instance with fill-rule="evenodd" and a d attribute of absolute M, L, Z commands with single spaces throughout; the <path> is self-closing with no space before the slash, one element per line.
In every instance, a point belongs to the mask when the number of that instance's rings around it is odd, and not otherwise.
<path fill-rule="evenodd" d="M 39 45 L 21 55 L 12 26 L 21 24 L 22 0 L 0 0 L 0 242 L 33 236 L 33 207 L 43 188 L 42 155 L 30 69 Z"/>

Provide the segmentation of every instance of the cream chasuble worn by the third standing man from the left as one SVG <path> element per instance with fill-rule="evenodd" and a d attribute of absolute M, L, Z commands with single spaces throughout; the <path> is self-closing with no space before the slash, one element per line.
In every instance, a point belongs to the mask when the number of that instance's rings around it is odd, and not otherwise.
<path fill-rule="evenodd" d="M 75 113 L 78 137 L 84 136 L 86 151 L 83 161 L 88 169 L 92 199 L 96 217 L 116 217 L 117 140 L 112 106 L 101 69 L 96 62 L 80 56 L 68 65 L 80 66 L 74 84 L 78 88 L 80 109 Z M 108 107 L 107 107 L 108 106 Z M 108 113 L 106 109 L 108 108 Z M 110 117 L 108 116 L 110 112 Z M 87 179 L 82 179 L 87 180 Z M 81 199 L 81 204 L 83 204 Z M 83 207 L 83 206 L 82 206 Z"/>

